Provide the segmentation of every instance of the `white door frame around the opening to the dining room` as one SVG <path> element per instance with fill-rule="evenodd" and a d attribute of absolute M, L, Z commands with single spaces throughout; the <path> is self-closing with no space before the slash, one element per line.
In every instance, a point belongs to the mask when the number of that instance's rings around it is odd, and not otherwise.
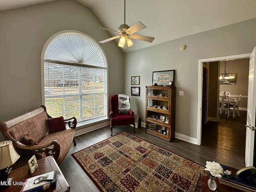
<path fill-rule="evenodd" d="M 202 79 L 203 79 L 203 63 L 222 61 L 222 60 L 232 60 L 232 59 L 242 59 L 250 58 L 251 53 L 230 55 L 223 57 L 207 58 L 198 60 L 198 108 L 197 108 L 197 145 L 201 145 L 202 142 Z"/>

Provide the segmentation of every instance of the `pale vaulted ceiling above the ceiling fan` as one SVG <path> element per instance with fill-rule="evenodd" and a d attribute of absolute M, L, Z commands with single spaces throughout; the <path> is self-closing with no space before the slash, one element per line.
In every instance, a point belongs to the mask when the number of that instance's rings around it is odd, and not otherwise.
<path fill-rule="evenodd" d="M 0 11 L 50 1 L 54 0 L 0 0 Z M 90 8 L 105 28 L 117 31 L 124 24 L 124 0 L 76 1 Z M 256 18 L 255 10 L 256 0 L 126 0 L 126 24 L 142 22 L 147 28 L 136 34 L 155 39 L 152 43 L 132 39 L 134 45 L 124 52 Z"/>

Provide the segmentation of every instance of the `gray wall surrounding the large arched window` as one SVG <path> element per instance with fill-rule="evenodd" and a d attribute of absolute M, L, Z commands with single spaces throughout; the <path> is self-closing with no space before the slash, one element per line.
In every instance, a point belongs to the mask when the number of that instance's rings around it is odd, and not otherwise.
<path fill-rule="evenodd" d="M 72 0 L 2 11 L 0 26 L 0 121 L 42 104 L 40 57 L 53 34 L 77 30 L 97 42 L 110 37 L 90 9 Z M 123 53 L 114 41 L 100 46 L 108 60 L 109 96 L 123 92 Z"/>

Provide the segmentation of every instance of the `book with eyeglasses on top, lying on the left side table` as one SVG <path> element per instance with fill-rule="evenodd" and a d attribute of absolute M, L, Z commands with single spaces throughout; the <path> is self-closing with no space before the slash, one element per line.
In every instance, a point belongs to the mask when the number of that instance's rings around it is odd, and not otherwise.
<path fill-rule="evenodd" d="M 57 170 L 27 178 L 20 192 L 39 192 L 56 186 Z"/>

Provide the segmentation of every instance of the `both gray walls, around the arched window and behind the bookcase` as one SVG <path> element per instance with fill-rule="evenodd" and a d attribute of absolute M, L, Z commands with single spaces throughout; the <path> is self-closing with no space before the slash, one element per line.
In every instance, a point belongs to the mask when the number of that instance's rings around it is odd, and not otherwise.
<path fill-rule="evenodd" d="M 41 105 L 40 56 L 50 36 L 78 30 L 96 41 L 109 38 L 92 11 L 72 0 L 0 12 L 0 26 L 0 121 Z M 198 60 L 251 52 L 255 26 L 256 18 L 126 54 L 114 41 L 100 44 L 108 59 L 109 96 L 128 94 L 132 110 L 145 122 L 145 86 L 151 85 L 152 72 L 176 70 L 176 132 L 196 138 Z M 183 51 L 182 45 L 187 47 Z M 137 75 L 140 97 L 130 90 L 131 76 Z M 179 90 L 184 96 L 178 96 Z"/>

